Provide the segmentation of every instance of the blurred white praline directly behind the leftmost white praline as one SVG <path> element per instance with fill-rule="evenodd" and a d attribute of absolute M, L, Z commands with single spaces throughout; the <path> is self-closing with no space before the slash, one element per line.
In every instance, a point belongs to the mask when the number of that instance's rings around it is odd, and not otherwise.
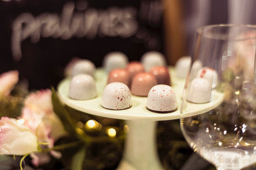
<path fill-rule="evenodd" d="M 73 70 L 72 70 L 72 76 L 76 76 L 78 74 L 89 74 L 90 76 L 94 77 L 96 67 L 94 63 L 92 63 L 90 60 L 83 59 L 78 61 Z"/>

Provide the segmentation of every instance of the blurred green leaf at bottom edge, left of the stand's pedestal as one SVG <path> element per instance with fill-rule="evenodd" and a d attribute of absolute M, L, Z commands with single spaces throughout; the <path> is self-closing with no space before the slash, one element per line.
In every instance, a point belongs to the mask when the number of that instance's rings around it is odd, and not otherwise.
<path fill-rule="evenodd" d="M 86 145 L 84 145 L 72 158 L 71 169 L 72 170 L 82 170 L 83 162 L 86 154 Z"/>

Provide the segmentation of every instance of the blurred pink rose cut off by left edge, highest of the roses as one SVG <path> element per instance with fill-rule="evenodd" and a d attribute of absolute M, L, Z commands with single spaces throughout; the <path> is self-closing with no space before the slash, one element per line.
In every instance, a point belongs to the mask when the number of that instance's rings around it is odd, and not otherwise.
<path fill-rule="evenodd" d="M 13 89 L 13 86 L 19 81 L 19 72 L 17 70 L 8 71 L 0 74 L 0 96 L 6 96 Z"/>

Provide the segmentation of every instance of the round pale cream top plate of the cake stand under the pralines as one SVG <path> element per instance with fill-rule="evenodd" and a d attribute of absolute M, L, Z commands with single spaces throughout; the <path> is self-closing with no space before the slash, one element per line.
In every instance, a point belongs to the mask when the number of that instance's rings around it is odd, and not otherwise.
<path fill-rule="evenodd" d="M 186 102 L 183 113 L 180 113 L 182 103 L 182 93 L 185 84 L 185 79 L 177 78 L 174 74 L 174 69 L 169 67 L 169 72 L 172 81 L 172 88 L 176 92 L 178 109 L 172 113 L 154 113 L 146 109 L 147 97 L 139 97 L 132 95 L 132 107 L 125 110 L 109 110 L 101 106 L 102 94 L 106 86 L 108 74 L 102 68 L 96 70 L 96 85 L 98 90 L 98 97 L 90 100 L 74 100 L 68 97 L 70 78 L 65 78 L 58 85 L 58 93 L 61 100 L 68 106 L 82 111 L 84 113 L 98 115 L 102 117 L 109 117 L 115 119 L 125 120 L 171 120 L 180 119 L 182 117 L 189 117 L 198 115 L 206 111 L 210 111 L 218 106 L 223 101 L 223 94 L 215 90 L 212 91 L 211 102 L 205 104 L 193 104 Z M 188 108 L 188 109 L 186 109 Z"/>

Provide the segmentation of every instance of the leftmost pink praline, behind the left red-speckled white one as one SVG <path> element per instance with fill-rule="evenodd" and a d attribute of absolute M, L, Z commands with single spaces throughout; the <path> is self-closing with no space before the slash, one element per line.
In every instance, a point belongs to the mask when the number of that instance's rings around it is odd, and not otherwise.
<path fill-rule="evenodd" d="M 130 74 L 124 68 L 116 68 L 108 74 L 108 84 L 113 82 L 124 83 L 127 86 L 130 84 Z"/>

